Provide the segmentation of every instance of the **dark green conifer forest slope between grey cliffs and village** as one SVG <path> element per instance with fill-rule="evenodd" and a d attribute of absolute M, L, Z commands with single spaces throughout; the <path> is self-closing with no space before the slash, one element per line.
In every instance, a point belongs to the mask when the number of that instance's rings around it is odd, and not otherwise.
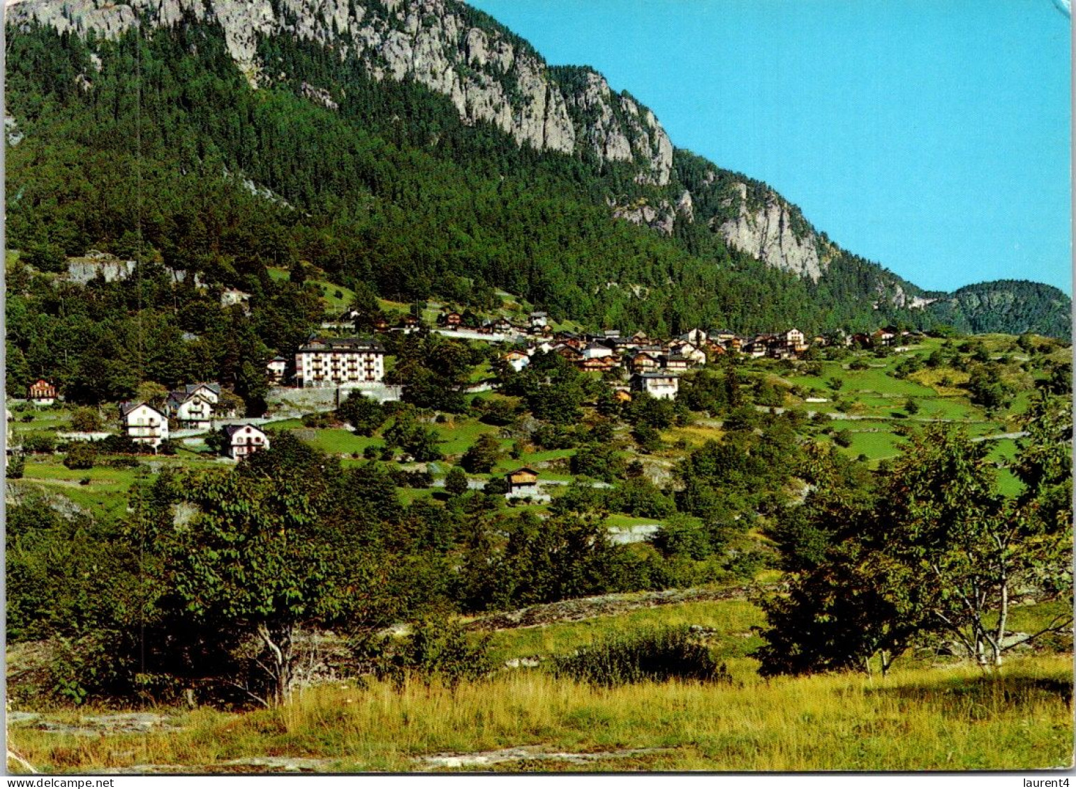
<path fill-rule="evenodd" d="M 704 222 L 663 237 L 613 221 L 610 195 L 656 202 L 681 184 L 519 146 L 464 125 L 442 96 L 374 82 L 310 43 L 263 40 L 287 76 L 253 90 L 201 23 L 142 41 L 11 33 L 9 108 L 24 137 L 9 150 L 9 243 L 38 268 L 98 249 L 256 291 L 266 265 L 308 260 L 396 300 L 482 307 L 499 287 L 560 319 L 668 333 L 925 318 L 873 308 L 873 264 L 838 262 L 816 284 L 730 251 Z M 329 86 L 339 109 L 301 98 L 303 83 Z"/>

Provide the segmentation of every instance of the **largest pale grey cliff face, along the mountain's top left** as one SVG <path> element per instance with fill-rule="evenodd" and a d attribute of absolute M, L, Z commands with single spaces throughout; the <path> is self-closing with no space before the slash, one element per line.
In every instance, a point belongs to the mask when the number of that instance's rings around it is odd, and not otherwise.
<path fill-rule="evenodd" d="M 172 25 L 185 14 L 215 20 L 252 85 L 272 75 L 257 57 L 260 36 L 283 34 L 358 58 L 377 80 L 410 78 L 448 96 L 462 118 L 484 121 L 539 151 L 587 146 L 609 161 L 634 161 L 637 180 L 669 181 L 672 144 L 653 113 L 615 96 L 599 74 L 566 95 L 526 44 L 455 0 L 17 0 L 9 23 L 115 38 L 140 24 Z M 593 73 L 593 72 L 592 72 Z M 317 86 L 310 86 L 321 100 Z M 597 123 L 587 123 L 589 118 Z"/>

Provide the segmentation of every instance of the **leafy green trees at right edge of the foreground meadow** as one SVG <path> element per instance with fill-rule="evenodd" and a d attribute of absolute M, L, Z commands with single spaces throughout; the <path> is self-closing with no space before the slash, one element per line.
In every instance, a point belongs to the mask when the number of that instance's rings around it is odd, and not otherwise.
<path fill-rule="evenodd" d="M 1017 591 L 1072 594 L 1067 409 L 1036 399 L 1015 466 L 1016 499 L 996 490 L 987 442 L 943 425 L 915 436 L 882 480 L 873 510 L 764 602 L 763 674 L 883 668 L 915 639 L 942 635 L 982 666 L 1001 666 Z M 1059 487 L 1062 489 L 1059 492 Z M 1065 491 L 1070 495 L 1065 495 Z M 821 510 L 824 511 L 824 510 Z M 1059 616 L 1020 643 L 1072 624 Z"/>

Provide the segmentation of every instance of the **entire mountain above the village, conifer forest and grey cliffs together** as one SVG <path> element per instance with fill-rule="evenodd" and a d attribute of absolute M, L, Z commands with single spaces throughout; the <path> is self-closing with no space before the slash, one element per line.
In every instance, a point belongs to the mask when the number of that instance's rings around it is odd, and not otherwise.
<path fill-rule="evenodd" d="M 504 288 L 592 327 L 1070 336 L 1063 294 L 926 294 L 454 0 L 6 12 L 9 245 L 39 268 L 97 249 L 257 295 L 267 265 L 307 260 L 387 298 Z"/>

